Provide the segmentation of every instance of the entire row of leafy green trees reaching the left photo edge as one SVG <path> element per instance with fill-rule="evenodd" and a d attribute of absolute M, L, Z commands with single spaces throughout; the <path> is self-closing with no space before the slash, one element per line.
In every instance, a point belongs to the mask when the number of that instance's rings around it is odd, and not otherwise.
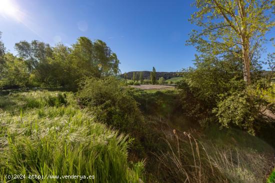
<path fill-rule="evenodd" d="M 37 40 L 20 41 L 15 49 L 19 58 L 10 53 L 0 56 L 1 86 L 63 86 L 76 90 L 81 78 L 119 73 L 116 54 L 101 40 L 79 37 L 71 48 L 63 44 L 50 47 Z"/>

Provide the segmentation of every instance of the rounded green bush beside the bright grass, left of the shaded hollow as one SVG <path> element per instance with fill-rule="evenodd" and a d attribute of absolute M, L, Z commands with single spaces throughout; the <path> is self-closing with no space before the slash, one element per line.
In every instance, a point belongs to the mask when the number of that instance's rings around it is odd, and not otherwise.
<path fill-rule="evenodd" d="M 113 77 L 90 78 L 82 82 L 77 96 L 97 121 L 127 131 L 138 128 L 143 121 L 137 102 L 128 90 Z"/>

